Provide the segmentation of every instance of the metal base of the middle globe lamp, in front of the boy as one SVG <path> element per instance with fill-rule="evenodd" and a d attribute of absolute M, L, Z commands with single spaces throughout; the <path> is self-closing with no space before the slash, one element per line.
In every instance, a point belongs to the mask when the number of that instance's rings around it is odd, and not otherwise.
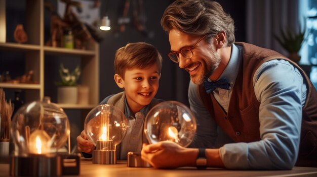
<path fill-rule="evenodd" d="M 116 164 L 116 151 L 94 150 L 93 163 L 95 164 Z"/>

